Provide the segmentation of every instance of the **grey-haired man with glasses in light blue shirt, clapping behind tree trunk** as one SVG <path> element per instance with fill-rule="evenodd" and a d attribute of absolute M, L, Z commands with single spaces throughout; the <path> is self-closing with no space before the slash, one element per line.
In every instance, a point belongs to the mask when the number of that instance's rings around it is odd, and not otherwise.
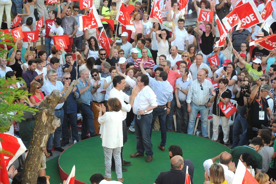
<path fill-rule="evenodd" d="M 57 73 L 55 69 L 50 69 L 47 72 L 48 82 L 45 84 L 44 92 L 46 95 L 50 95 L 53 90 L 59 90 L 61 94 L 65 93 L 69 87 L 69 83 L 65 82 L 64 86 L 61 81 L 57 81 Z M 55 116 L 60 118 L 60 126 L 57 127 L 54 132 L 54 150 L 63 152 L 63 149 L 60 147 L 60 138 L 62 133 L 62 123 L 63 123 L 63 106 L 64 102 L 59 103 L 55 107 Z M 48 142 L 47 142 L 47 152 L 52 156 L 52 146 L 53 146 L 53 134 L 50 134 Z"/>

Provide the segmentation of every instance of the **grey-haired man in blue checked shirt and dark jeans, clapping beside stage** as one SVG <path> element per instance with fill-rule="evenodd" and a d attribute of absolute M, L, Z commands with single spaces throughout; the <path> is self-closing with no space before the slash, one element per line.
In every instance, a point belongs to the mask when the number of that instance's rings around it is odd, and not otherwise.
<path fill-rule="evenodd" d="M 94 118 L 93 113 L 91 111 L 91 99 L 92 99 L 92 89 L 95 88 L 91 86 L 90 79 L 89 79 L 89 70 L 84 68 L 79 71 L 80 78 L 78 78 L 79 83 L 77 84 L 77 88 L 79 89 L 80 98 L 77 101 L 77 107 L 79 112 L 82 111 L 82 134 L 81 138 L 87 139 L 89 138 L 87 135 L 87 130 L 90 133 L 90 137 L 96 136 L 95 129 L 94 129 Z M 93 87 L 93 88 L 92 88 Z"/>

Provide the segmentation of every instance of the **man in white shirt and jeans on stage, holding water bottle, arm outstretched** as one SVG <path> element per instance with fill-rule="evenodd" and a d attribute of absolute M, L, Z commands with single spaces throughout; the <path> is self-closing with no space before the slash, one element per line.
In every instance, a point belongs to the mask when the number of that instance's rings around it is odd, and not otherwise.
<path fill-rule="evenodd" d="M 140 86 L 141 91 L 135 97 L 133 103 L 133 113 L 134 116 L 134 126 L 135 126 L 135 135 L 137 141 L 137 152 L 131 154 L 130 157 L 143 157 L 144 151 L 147 154 L 146 162 L 152 161 L 152 143 L 150 137 L 150 129 L 151 129 L 151 121 L 152 121 L 152 110 L 157 107 L 157 99 L 153 90 L 148 86 L 149 79 L 145 74 L 140 74 L 137 77 L 136 82 L 131 79 L 129 76 L 122 74 L 118 68 L 117 73 L 123 77 L 125 77 L 125 82 L 128 83 L 129 86 L 134 88 L 136 85 Z"/>

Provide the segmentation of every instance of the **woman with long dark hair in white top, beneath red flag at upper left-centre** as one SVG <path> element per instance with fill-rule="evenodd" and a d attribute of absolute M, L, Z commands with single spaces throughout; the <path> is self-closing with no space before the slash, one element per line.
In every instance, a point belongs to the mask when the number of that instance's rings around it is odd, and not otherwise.
<path fill-rule="evenodd" d="M 86 47 L 83 51 L 84 55 L 87 55 L 87 58 L 93 57 L 95 60 L 99 58 L 99 50 L 102 48 L 98 45 L 98 41 L 94 36 L 91 36 L 87 42 L 85 42 Z"/>

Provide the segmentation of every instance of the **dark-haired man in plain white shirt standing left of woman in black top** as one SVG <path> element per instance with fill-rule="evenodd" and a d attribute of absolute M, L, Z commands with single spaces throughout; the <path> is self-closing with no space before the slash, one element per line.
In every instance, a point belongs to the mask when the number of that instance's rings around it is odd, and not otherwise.
<path fill-rule="evenodd" d="M 182 52 L 187 50 L 187 47 L 189 45 L 189 35 L 186 29 L 184 28 L 185 20 L 180 18 L 178 20 L 178 27 L 175 26 L 174 33 L 175 33 L 175 40 L 171 42 L 171 45 L 175 45 L 178 47 L 177 52 L 179 54 L 182 54 Z M 181 60 L 181 58 L 180 58 Z M 180 61 L 178 60 L 178 61 Z M 172 65 L 174 66 L 174 65 Z"/>

